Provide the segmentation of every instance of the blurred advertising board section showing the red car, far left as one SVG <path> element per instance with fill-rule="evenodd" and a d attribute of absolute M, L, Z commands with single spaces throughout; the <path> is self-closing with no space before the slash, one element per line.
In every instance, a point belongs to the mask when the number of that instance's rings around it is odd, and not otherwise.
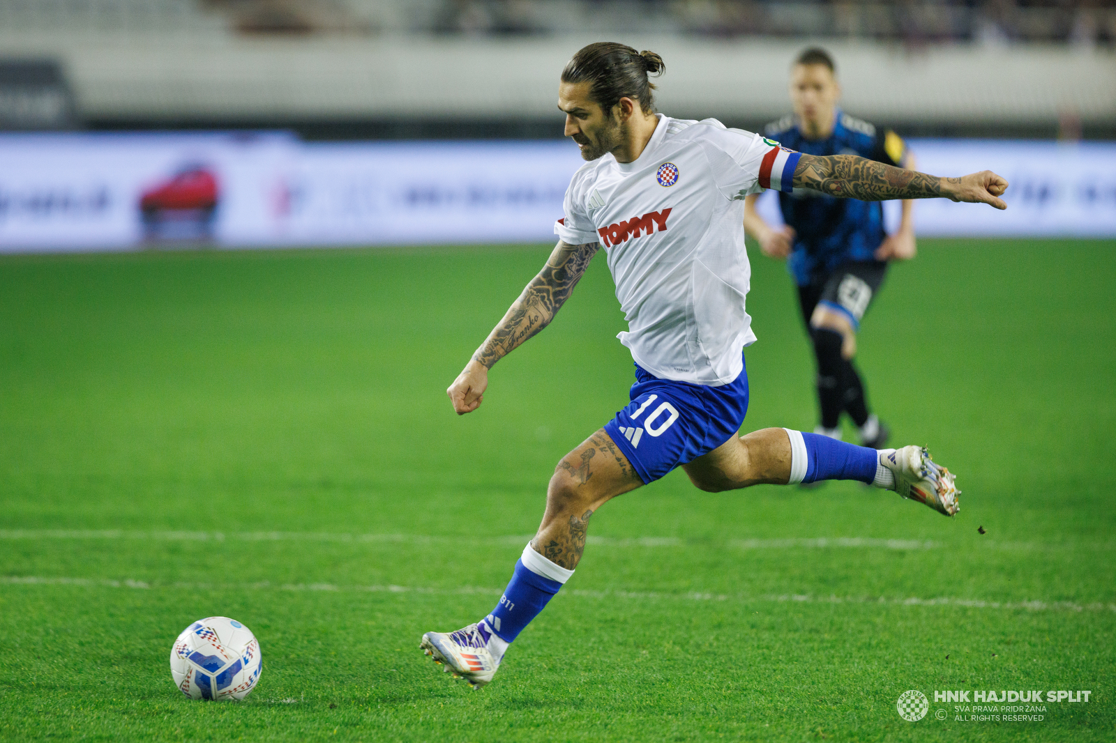
<path fill-rule="evenodd" d="M 277 244 L 287 134 L 0 135 L 0 251 Z"/>

